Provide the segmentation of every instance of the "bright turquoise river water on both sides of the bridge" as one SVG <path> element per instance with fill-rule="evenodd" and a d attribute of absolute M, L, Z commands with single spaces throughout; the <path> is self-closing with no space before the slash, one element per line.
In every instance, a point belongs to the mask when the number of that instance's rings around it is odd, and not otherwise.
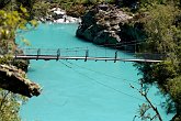
<path fill-rule="evenodd" d="M 75 37 L 77 24 L 41 24 L 23 35 L 32 48 L 86 47 L 92 56 L 114 56 L 115 51 L 98 47 Z M 20 43 L 18 38 L 18 43 Z M 21 47 L 23 44 L 20 45 Z M 122 57 L 132 57 L 118 53 Z M 43 87 L 21 109 L 23 121 L 133 121 L 144 98 L 132 63 L 84 61 L 31 61 L 27 76 Z M 150 89 L 149 98 L 158 106 L 160 96 Z M 160 107 L 163 121 L 169 121 Z M 135 121 L 140 121 L 136 119 Z"/>

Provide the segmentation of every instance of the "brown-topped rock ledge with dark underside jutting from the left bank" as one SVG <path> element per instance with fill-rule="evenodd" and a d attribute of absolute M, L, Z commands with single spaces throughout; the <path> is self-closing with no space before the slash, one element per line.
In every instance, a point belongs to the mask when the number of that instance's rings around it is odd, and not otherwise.
<path fill-rule="evenodd" d="M 25 73 L 15 66 L 0 65 L 0 88 L 30 98 L 41 94 L 41 86 L 29 80 Z"/>

